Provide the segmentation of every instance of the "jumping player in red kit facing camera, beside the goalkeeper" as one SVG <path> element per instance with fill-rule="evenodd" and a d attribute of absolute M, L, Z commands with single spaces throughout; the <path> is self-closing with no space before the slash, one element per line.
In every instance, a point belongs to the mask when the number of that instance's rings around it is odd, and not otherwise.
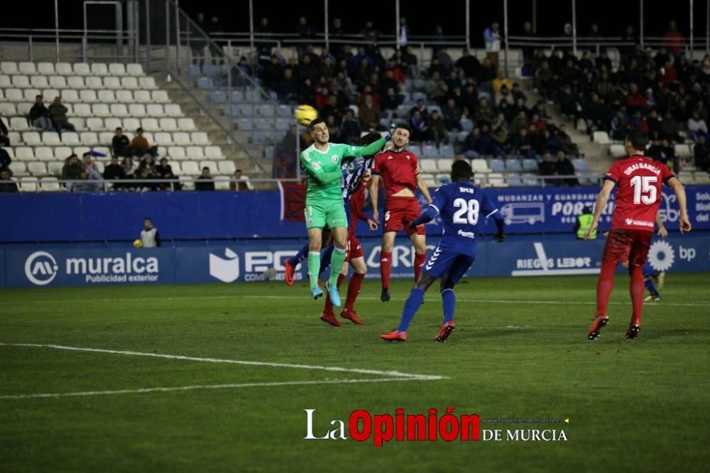
<path fill-rule="evenodd" d="M 386 194 L 385 223 L 383 225 L 382 249 L 380 252 L 380 276 L 382 280 L 382 302 L 390 300 L 390 274 L 392 271 L 392 249 L 395 244 L 397 232 L 401 229 L 407 231 L 415 249 L 414 280 L 419 279 L 422 265 L 427 259 L 427 241 L 424 225 L 415 229 L 408 227 L 409 222 L 419 217 L 421 213 L 419 202 L 415 197 L 417 187 L 427 200 L 432 203 L 429 189 L 419 175 L 417 156 L 405 150 L 409 143 L 409 128 L 398 125 L 392 134 L 393 148 L 383 151 L 375 156 L 375 168 L 372 176 L 372 208 L 373 219 L 379 222 L 377 207 L 380 180 L 383 181 Z"/>

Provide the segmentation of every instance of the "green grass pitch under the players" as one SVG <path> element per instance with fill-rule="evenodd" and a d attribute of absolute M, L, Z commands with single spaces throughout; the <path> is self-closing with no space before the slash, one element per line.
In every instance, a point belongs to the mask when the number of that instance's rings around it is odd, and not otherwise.
<path fill-rule="evenodd" d="M 410 281 L 393 283 L 386 304 L 378 281 L 366 281 L 356 306 L 366 325 L 340 328 L 318 320 L 322 300 L 304 284 L 0 290 L 0 471 L 706 471 L 709 276 L 669 274 L 630 341 L 628 276 L 618 275 L 611 323 L 595 342 L 586 339 L 593 276 L 462 281 L 445 344 L 432 342 L 442 317 L 436 287 L 408 342 L 379 339 L 397 325 Z M 185 386 L 212 387 L 173 389 Z M 67 393 L 80 394 L 55 396 Z M 482 420 L 569 418 L 481 423 L 563 429 L 567 441 L 303 440 L 304 409 L 317 409 L 321 436 L 356 409 L 447 406 Z"/>

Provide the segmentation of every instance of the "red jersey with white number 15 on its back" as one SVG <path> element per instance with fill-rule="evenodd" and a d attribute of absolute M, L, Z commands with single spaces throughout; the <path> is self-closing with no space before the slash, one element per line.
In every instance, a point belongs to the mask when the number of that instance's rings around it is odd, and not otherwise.
<path fill-rule="evenodd" d="M 662 184 L 674 177 L 665 164 L 638 154 L 613 163 L 604 176 L 616 183 L 611 228 L 653 232 Z"/>

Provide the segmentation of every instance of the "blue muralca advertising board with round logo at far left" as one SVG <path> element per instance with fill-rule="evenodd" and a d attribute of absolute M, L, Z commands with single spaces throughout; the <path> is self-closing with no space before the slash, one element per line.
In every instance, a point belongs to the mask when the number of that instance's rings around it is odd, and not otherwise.
<path fill-rule="evenodd" d="M 169 284 L 175 281 L 174 250 L 32 249 L 5 251 L 6 285 L 94 286 Z"/>

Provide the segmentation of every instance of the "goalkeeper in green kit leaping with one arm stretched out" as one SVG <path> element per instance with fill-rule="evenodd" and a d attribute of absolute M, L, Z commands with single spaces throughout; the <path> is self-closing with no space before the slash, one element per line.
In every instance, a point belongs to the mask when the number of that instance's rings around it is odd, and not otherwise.
<path fill-rule="evenodd" d="M 343 204 L 341 181 L 346 171 L 342 170 L 346 158 L 371 156 L 385 146 L 390 134 L 385 134 L 368 146 L 350 146 L 328 143 L 328 126 L 322 119 L 315 119 L 309 125 L 314 143 L 301 152 L 300 161 L 306 171 L 306 228 L 308 229 L 308 275 L 311 295 L 314 299 L 322 298 L 323 291 L 318 287 L 320 273 L 320 248 L 323 227 L 331 229 L 334 250 L 330 262 L 330 278 L 326 290 L 335 307 L 340 307 L 338 294 L 338 275 L 345 261 L 348 221 Z"/>

